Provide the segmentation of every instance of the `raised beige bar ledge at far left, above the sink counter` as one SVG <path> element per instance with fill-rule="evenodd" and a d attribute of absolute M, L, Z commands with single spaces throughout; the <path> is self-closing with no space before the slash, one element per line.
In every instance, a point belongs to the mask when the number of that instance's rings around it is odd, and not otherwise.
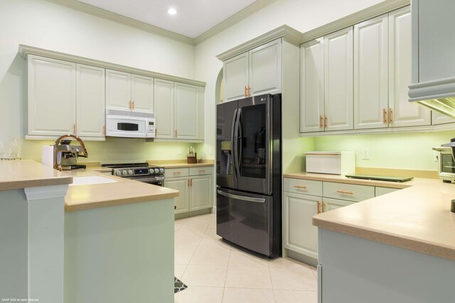
<path fill-rule="evenodd" d="M 0 160 L 0 190 L 70 184 L 73 177 L 33 160 Z"/>

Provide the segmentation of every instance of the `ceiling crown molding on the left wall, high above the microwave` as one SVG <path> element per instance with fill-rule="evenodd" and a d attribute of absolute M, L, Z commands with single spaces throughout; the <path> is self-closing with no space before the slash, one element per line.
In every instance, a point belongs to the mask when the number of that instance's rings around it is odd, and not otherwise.
<path fill-rule="evenodd" d="M 141 31 L 146 31 L 153 33 L 154 35 L 161 35 L 165 38 L 170 38 L 178 42 L 186 43 L 189 45 L 194 45 L 194 39 L 186 35 L 181 35 L 179 33 L 174 33 L 173 31 L 168 31 L 164 28 L 159 28 L 158 26 L 152 26 L 149 23 L 135 20 L 126 16 L 119 15 L 118 13 L 113 13 L 112 11 L 107 11 L 105 9 L 100 9 L 99 7 L 86 4 L 77 0 L 46 0 L 55 4 L 60 4 L 70 9 L 75 9 L 77 11 L 82 11 L 82 13 L 89 13 L 90 15 L 97 16 L 100 18 L 105 18 L 109 21 L 114 21 L 117 23 L 122 23 L 126 26 L 131 26 L 132 28 L 137 28 Z"/>

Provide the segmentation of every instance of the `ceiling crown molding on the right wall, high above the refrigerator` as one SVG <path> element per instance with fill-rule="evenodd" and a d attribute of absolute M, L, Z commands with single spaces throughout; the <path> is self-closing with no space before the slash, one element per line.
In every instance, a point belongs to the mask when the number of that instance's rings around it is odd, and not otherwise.
<path fill-rule="evenodd" d="M 227 18 L 225 21 L 218 23 L 216 26 L 213 26 L 213 28 L 210 28 L 208 31 L 205 31 L 204 33 L 198 35 L 196 38 L 194 38 L 194 44 L 198 45 L 200 43 L 203 43 L 205 40 L 208 40 L 214 35 L 224 31 L 227 28 L 230 28 L 230 26 L 233 26 L 235 23 L 238 23 L 248 16 L 251 16 L 253 13 L 256 13 L 274 1 L 276 0 L 257 0 L 253 2 L 249 6 L 245 7 L 245 9 L 238 11 L 234 15 Z"/>

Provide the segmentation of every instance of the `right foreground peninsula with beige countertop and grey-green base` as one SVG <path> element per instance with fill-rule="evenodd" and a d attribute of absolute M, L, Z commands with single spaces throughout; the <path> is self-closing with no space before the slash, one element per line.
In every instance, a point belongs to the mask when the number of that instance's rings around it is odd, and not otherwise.
<path fill-rule="evenodd" d="M 453 302 L 455 186 L 410 185 L 314 216 L 319 302 Z"/>

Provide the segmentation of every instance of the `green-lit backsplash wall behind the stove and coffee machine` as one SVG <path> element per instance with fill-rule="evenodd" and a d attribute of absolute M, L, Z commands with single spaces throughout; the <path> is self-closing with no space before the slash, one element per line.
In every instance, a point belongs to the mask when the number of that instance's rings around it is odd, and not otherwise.
<path fill-rule="evenodd" d="M 186 159 L 188 146 L 200 150 L 201 143 L 166 143 L 146 142 L 144 139 L 107 138 L 106 141 L 85 141 L 89 158 L 80 158 L 79 162 L 137 162 L 144 160 Z M 22 141 L 21 158 L 41 162 L 43 145 L 53 141 Z M 77 145 L 77 142 L 74 143 Z M 181 155 L 178 150 L 181 149 Z M 200 158 L 200 157 L 198 157 Z"/>

